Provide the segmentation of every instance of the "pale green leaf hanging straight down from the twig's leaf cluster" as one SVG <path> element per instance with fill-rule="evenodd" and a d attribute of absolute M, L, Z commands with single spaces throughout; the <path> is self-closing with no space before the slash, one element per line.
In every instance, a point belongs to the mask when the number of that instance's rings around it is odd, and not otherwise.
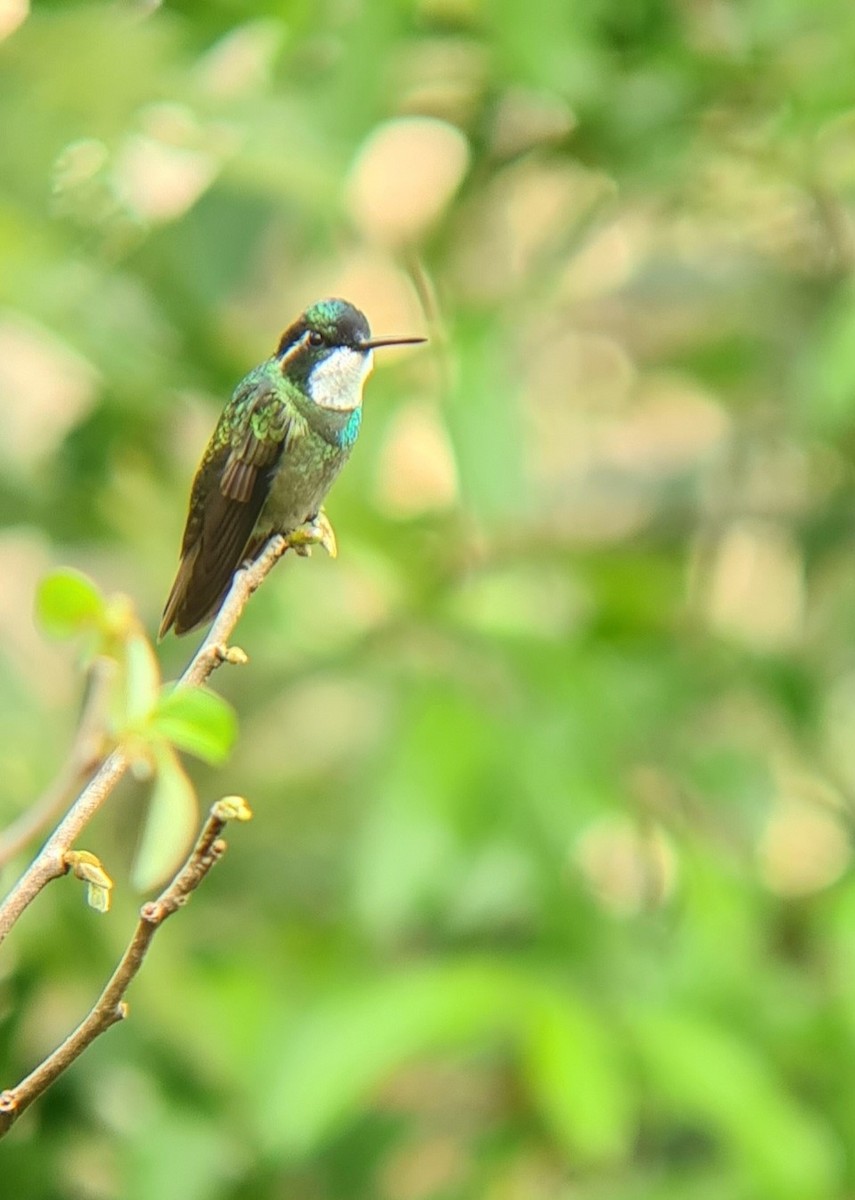
<path fill-rule="evenodd" d="M 180 866 L 199 823 L 196 790 L 168 745 L 154 751 L 155 782 L 131 882 L 139 892 L 165 883 Z"/>

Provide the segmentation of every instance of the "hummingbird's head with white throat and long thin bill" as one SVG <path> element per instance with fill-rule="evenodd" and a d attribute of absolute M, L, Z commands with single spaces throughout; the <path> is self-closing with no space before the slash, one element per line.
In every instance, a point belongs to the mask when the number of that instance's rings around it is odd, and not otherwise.
<path fill-rule="evenodd" d="M 408 346 L 424 337 L 372 337 L 363 313 L 347 300 L 318 300 L 282 334 L 280 370 L 319 408 L 359 408 L 363 384 L 381 346 Z"/>

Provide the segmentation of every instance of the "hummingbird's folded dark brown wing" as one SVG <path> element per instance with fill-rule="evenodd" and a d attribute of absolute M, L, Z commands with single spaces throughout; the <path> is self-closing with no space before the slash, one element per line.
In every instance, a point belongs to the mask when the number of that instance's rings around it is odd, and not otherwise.
<path fill-rule="evenodd" d="M 235 394 L 221 421 L 193 480 L 181 563 L 163 610 L 161 637 L 173 626 L 186 634 L 216 612 L 288 440 L 287 409 L 264 384 Z"/>

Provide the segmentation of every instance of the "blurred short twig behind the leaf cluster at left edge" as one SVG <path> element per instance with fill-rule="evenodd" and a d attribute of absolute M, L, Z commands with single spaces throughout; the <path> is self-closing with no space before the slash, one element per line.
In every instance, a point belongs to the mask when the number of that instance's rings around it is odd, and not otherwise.
<path fill-rule="evenodd" d="M 88 696 L 68 756 L 36 803 L 0 833 L 0 869 L 67 809 L 86 776 L 102 761 L 104 704 L 114 673 L 113 659 L 101 655 L 92 662 Z"/>

